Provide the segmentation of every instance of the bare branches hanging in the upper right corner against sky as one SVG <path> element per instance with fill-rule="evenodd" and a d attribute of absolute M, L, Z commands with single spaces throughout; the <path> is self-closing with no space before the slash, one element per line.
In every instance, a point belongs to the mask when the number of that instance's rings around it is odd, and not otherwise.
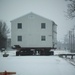
<path fill-rule="evenodd" d="M 65 0 L 68 2 L 67 14 L 69 18 L 75 17 L 75 0 Z"/>

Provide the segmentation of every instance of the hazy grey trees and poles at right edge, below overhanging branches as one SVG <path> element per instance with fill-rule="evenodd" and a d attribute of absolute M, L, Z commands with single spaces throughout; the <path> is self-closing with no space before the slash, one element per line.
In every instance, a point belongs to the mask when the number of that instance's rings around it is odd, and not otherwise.
<path fill-rule="evenodd" d="M 65 35 L 64 44 L 70 52 L 75 52 L 75 26 Z"/>

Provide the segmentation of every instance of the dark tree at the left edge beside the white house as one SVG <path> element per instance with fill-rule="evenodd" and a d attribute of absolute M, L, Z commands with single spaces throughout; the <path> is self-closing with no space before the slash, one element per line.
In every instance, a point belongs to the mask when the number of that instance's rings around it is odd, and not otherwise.
<path fill-rule="evenodd" d="M 7 46 L 7 34 L 9 29 L 5 22 L 0 21 L 0 48 L 6 48 Z"/>

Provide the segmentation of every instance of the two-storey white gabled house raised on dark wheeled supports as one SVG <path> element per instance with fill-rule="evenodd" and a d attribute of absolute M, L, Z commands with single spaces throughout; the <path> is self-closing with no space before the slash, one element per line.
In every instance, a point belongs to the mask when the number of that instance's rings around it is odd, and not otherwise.
<path fill-rule="evenodd" d="M 55 47 L 57 25 L 42 16 L 28 13 L 11 21 L 11 46 Z"/>

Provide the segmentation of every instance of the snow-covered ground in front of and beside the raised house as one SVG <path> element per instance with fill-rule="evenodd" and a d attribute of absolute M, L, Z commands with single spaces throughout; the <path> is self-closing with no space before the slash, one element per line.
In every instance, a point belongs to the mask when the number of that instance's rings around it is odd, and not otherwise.
<path fill-rule="evenodd" d="M 67 51 L 55 51 L 55 56 L 15 56 L 8 51 L 8 57 L 0 52 L 0 72 L 12 71 L 16 75 L 75 75 L 75 66 L 57 54 Z"/>

